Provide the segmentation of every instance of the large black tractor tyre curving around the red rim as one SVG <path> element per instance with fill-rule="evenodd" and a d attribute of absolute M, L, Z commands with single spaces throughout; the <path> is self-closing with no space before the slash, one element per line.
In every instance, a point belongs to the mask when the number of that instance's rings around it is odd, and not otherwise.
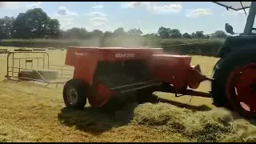
<path fill-rule="evenodd" d="M 235 70 L 236 67 L 244 66 L 250 62 L 256 62 L 256 49 L 253 46 L 242 47 L 239 50 L 231 52 L 226 55 L 226 58 L 222 59 L 220 62 L 220 69 L 218 74 L 215 75 L 215 82 L 212 84 L 213 98 L 215 102 L 219 104 L 228 103 L 226 98 L 226 82 L 230 76 L 230 73 Z M 216 73 L 216 72 L 215 72 Z M 242 113 L 242 109 L 237 107 L 238 113 L 245 116 Z"/>

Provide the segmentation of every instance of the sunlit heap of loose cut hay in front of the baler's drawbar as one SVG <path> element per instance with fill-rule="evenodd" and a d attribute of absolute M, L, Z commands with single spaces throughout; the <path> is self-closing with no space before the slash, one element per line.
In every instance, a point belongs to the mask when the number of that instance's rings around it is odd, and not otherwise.
<path fill-rule="evenodd" d="M 234 122 L 228 110 L 193 112 L 165 103 L 139 105 L 134 110 L 132 123 L 138 126 L 150 126 L 163 133 L 178 133 L 189 139 L 190 142 L 231 141 L 232 137 L 239 133 L 238 128 L 241 125 Z M 235 142 L 255 140 L 256 134 L 245 131 L 235 138 Z"/>

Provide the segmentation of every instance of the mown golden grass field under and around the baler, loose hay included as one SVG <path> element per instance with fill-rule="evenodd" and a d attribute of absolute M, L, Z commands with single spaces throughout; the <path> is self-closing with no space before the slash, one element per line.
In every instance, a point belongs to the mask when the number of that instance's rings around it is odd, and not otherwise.
<path fill-rule="evenodd" d="M 51 64 L 64 64 L 66 51 L 48 52 Z M 193 56 L 192 63 L 210 76 L 217 61 Z M 0 55 L 0 66 L 0 142 L 256 142 L 256 122 L 215 108 L 210 98 L 190 102 L 190 96 L 156 93 L 174 105 L 134 103 L 113 114 L 89 106 L 66 110 L 62 86 L 6 81 L 6 54 Z M 210 90 L 210 83 L 198 90 Z"/>

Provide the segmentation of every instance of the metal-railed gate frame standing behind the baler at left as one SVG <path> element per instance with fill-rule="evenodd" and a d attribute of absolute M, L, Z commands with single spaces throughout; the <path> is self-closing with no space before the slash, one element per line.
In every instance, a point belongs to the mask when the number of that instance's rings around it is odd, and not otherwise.
<path fill-rule="evenodd" d="M 26 82 L 64 84 L 73 77 L 71 66 L 50 65 L 46 51 L 9 51 L 7 52 L 6 78 Z"/>

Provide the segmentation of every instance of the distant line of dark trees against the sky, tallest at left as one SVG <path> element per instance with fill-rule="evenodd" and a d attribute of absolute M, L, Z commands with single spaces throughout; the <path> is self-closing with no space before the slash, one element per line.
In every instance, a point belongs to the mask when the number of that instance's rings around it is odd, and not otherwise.
<path fill-rule="evenodd" d="M 125 31 L 124 28 L 103 32 L 102 30 L 87 31 L 86 28 L 73 27 L 70 30 L 60 30 L 58 19 L 50 18 L 41 8 L 26 10 L 26 13 L 18 14 L 17 18 L 0 18 L 0 39 L 10 38 L 58 38 L 58 39 L 85 39 L 85 38 L 109 38 L 114 36 L 142 36 L 146 38 L 210 38 L 203 31 L 192 34 L 181 34 L 178 29 L 159 27 L 157 33 L 143 34 L 140 29 Z M 226 38 L 226 33 L 217 30 L 214 38 Z"/>

